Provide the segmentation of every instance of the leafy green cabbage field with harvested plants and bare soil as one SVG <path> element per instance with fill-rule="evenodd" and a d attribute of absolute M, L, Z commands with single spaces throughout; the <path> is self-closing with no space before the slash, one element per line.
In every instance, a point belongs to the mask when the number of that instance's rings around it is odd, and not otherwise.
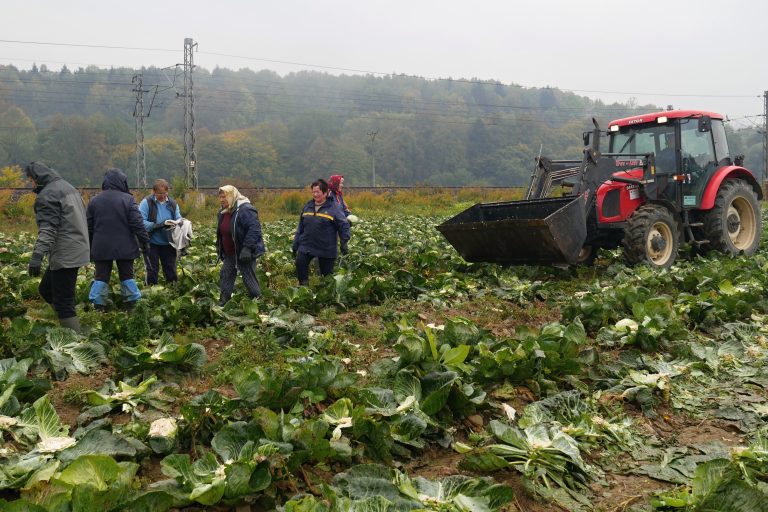
<path fill-rule="evenodd" d="M 0 510 L 765 510 L 765 244 L 502 267 L 441 220 L 365 218 L 309 287 L 269 222 L 264 297 L 224 308 L 197 226 L 179 283 L 129 315 L 113 276 L 83 335 L 0 235 Z"/>

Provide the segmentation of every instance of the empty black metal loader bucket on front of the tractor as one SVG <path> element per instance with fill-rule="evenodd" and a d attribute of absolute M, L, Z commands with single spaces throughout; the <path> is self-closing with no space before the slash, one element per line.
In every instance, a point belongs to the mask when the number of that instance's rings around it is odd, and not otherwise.
<path fill-rule="evenodd" d="M 476 204 L 439 226 L 471 262 L 575 263 L 587 239 L 581 197 Z"/>

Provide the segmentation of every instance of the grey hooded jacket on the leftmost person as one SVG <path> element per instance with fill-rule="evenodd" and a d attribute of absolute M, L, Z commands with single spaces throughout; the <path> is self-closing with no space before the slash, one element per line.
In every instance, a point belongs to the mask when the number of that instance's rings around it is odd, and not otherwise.
<path fill-rule="evenodd" d="M 88 264 L 88 226 L 80 193 L 56 171 L 32 162 L 27 176 L 35 180 L 37 242 L 33 252 L 48 256 L 48 268 L 77 268 Z"/>

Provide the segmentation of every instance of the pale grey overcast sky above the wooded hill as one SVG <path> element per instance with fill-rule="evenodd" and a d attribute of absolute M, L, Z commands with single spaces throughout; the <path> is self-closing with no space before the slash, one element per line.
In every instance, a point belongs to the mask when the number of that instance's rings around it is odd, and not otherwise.
<path fill-rule="evenodd" d="M 191 37 L 206 69 L 494 79 L 731 118 L 761 115 L 768 90 L 758 0 L 3 0 L 2 13 L 0 64 L 24 69 L 171 66 Z"/>

